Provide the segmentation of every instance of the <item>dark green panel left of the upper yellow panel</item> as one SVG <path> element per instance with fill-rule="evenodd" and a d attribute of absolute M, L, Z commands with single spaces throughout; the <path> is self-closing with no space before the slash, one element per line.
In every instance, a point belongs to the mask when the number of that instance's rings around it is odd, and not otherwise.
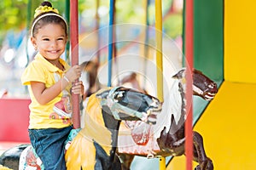
<path fill-rule="evenodd" d="M 224 2 L 194 1 L 194 67 L 217 82 L 224 78 Z"/>

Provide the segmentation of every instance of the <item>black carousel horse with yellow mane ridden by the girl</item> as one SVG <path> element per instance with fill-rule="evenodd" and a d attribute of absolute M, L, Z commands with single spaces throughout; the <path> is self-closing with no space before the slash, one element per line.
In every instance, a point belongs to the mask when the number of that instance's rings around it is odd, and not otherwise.
<path fill-rule="evenodd" d="M 161 103 L 158 99 L 131 88 L 104 88 L 92 94 L 86 107 L 84 127 L 73 129 L 67 139 L 67 169 L 121 169 L 119 157 L 116 155 L 120 122 L 141 120 L 155 124 L 160 111 Z M 16 159 L 18 156 L 13 156 L 17 155 L 15 152 L 20 147 L 23 147 L 23 151 L 20 159 Z M 20 161 L 20 168 L 10 168 L 44 169 L 35 152 L 26 149 L 21 145 L 5 151 L 0 156 L 0 164 L 9 167 Z"/>

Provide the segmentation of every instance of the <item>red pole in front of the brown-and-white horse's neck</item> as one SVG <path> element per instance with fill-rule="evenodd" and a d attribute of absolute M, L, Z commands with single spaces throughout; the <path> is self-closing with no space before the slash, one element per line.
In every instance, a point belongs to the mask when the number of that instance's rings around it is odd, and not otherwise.
<path fill-rule="evenodd" d="M 192 131 L 192 120 L 193 120 L 193 102 L 192 102 L 192 81 L 193 81 L 193 0 L 186 0 L 185 5 L 185 56 L 187 64 L 186 81 L 186 111 L 187 119 L 185 122 L 185 154 L 186 154 L 186 167 L 187 170 L 192 169 L 192 158 L 193 158 L 193 131 Z"/>

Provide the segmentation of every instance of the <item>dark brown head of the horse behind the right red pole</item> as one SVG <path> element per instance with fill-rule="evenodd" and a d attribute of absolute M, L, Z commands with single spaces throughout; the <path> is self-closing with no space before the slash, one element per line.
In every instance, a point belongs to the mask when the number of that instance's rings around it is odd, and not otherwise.
<path fill-rule="evenodd" d="M 174 78 L 182 79 L 185 77 L 185 69 L 178 71 Z M 193 94 L 202 99 L 211 100 L 218 92 L 216 82 L 205 76 L 201 71 L 193 70 Z"/>

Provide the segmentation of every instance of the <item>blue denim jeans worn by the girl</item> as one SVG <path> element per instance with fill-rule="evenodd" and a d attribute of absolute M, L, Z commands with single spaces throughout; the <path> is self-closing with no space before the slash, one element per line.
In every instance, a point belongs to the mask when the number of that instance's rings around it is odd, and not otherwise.
<path fill-rule="evenodd" d="M 64 142 L 71 127 L 29 129 L 32 147 L 36 150 L 45 170 L 66 170 Z"/>

